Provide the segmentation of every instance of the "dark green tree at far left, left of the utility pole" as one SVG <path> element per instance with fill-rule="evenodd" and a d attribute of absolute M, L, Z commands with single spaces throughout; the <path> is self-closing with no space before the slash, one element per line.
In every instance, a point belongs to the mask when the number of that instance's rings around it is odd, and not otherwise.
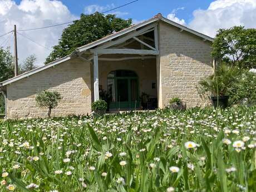
<path fill-rule="evenodd" d="M 9 50 L 0 47 L 0 82 L 8 80 L 14 76 L 13 56 Z"/>

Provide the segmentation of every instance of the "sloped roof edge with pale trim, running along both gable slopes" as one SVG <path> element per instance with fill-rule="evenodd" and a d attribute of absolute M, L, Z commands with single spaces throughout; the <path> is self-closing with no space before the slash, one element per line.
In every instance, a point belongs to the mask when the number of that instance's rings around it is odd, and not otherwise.
<path fill-rule="evenodd" d="M 209 37 L 209 36 L 206 36 L 206 35 L 204 35 L 203 33 L 199 33 L 199 32 L 197 32 L 197 31 L 194 31 L 193 29 L 190 29 L 190 28 L 188 28 L 188 27 L 185 27 L 185 26 L 183 26 L 183 25 L 181 25 L 181 24 L 179 24 L 179 23 L 176 23 L 176 22 L 174 22 L 174 21 L 171 21 L 171 20 L 169 20 L 169 19 L 167 19 L 167 18 L 164 18 L 164 17 L 161 15 L 161 13 L 158 13 L 158 14 L 156 14 L 154 17 L 152 17 L 152 18 L 150 18 L 150 19 L 147 19 L 146 21 L 143 21 L 143 22 L 137 23 L 137 24 L 133 24 L 132 26 L 127 27 L 127 28 L 125 28 L 125 29 L 122 29 L 122 30 L 119 31 L 119 32 L 115 32 L 115 33 L 112 33 L 111 35 L 108 35 L 108 36 L 106 36 L 106 37 L 103 37 L 103 38 L 101 38 L 100 40 L 96 40 L 96 41 L 93 41 L 93 42 L 91 42 L 91 43 L 88 43 L 87 45 L 78 47 L 78 48 L 77 48 L 72 54 L 70 54 L 70 55 L 67 55 L 67 56 L 65 56 L 65 57 L 63 57 L 63 58 L 60 58 L 60 59 L 56 60 L 56 61 L 53 61 L 53 62 L 51 62 L 51 63 L 48 63 L 47 65 L 37 67 L 37 68 L 35 68 L 35 69 L 31 70 L 31 71 L 22 73 L 21 75 L 18 75 L 18 76 L 16 76 L 16 77 L 13 77 L 13 78 L 10 78 L 10 79 L 8 79 L 8 80 L 6 80 L 6 81 L 3 81 L 3 82 L 0 83 L 0 87 L 6 86 L 6 85 L 8 85 L 9 83 L 12 83 L 12 82 L 21 80 L 22 78 L 31 76 L 31 75 L 33 75 L 33 74 L 35 74 L 35 73 L 37 73 L 37 72 L 46 70 L 47 68 L 53 67 L 53 66 L 58 65 L 58 64 L 60 64 L 60 63 L 62 63 L 62 62 L 65 62 L 65 61 L 67 61 L 67 60 L 70 60 L 71 57 L 72 57 L 72 55 L 75 55 L 77 52 L 78 52 L 78 53 L 84 52 L 84 51 L 86 51 L 86 50 L 88 50 L 88 49 L 90 49 L 90 48 L 92 48 L 92 47 L 101 45 L 102 43 L 105 43 L 105 42 L 107 42 L 107 41 L 111 41 L 111 40 L 113 40 L 114 38 L 117 38 L 117 37 L 120 37 L 120 36 L 122 36 L 122 35 L 125 35 L 126 33 L 129 33 L 129 32 L 131 32 L 131 31 L 134 31 L 134 30 L 136 30 L 136 29 L 138 29 L 138 28 L 144 27 L 144 26 L 146 26 L 147 24 L 150 24 L 150 23 L 153 23 L 153 22 L 156 22 L 156 21 L 163 21 L 163 22 L 169 23 L 169 24 L 171 24 L 171 25 L 173 25 L 173 26 L 175 26 L 175 27 L 178 27 L 178 28 L 180 28 L 180 29 L 183 29 L 184 31 L 187 31 L 187 32 L 192 33 L 192 34 L 194 34 L 194 35 L 196 35 L 196 36 L 199 36 L 199 37 L 201 37 L 201 38 L 204 38 L 204 40 L 208 40 L 208 41 L 210 41 L 210 42 L 213 42 L 213 38 L 211 38 L 211 37 Z"/>

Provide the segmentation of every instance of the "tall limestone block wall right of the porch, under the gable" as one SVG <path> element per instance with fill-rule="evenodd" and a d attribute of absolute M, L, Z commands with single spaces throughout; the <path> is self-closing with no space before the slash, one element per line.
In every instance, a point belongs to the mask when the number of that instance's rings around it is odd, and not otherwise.
<path fill-rule="evenodd" d="M 160 22 L 160 95 L 165 107 L 173 97 L 187 102 L 188 107 L 205 106 L 196 86 L 200 78 L 213 73 L 211 44 L 179 28 Z"/>

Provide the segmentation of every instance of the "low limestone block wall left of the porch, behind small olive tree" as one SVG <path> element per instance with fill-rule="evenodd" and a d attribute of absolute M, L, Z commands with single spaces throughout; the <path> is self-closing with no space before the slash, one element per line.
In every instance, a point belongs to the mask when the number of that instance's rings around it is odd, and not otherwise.
<path fill-rule="evenodd" d="M 91 112 L 90 76 L 90 64 L 74 58 L 7 85 L 7 117 L 46 117 L 47 109 L 36 105 L 40 90 L 62 96 L 52 116 L 86 115 Z"/>

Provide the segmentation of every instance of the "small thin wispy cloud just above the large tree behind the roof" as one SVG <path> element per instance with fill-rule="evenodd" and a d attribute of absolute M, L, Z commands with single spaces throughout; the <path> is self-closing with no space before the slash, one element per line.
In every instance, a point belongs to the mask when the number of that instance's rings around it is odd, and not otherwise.
<path fill-rule="evenodd" d="M 85 14 L 92 14 L 95 12 L 105 12 L 108 11 L 110 9 L 115 8 L 115 4 L 107 4 L 106 6 L 99 6 L 98 4 L 91 4 L 90 6 L 86 6 L 85 7 Z M 125 16 L 129 13 L 127 12 L 121 12 L 121 11 L 112 11 L 112 12 L 107 12 L 106 14 L 116 14 L 117 17 L 122 17 Z"/>

